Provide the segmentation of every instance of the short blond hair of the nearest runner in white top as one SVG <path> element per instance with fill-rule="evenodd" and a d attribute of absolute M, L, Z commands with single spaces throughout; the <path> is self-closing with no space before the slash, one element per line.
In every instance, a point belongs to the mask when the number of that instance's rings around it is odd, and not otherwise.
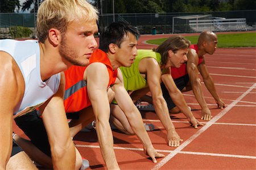
<path fill-rule="evenodd" d="M 50 28 L 65 33 L 68 23 L 76 19 L 97 21 L 98 11 L 85 0 L 46 0 L 40 5 L 36 19 L 36 35 L 44 43 Z"/>

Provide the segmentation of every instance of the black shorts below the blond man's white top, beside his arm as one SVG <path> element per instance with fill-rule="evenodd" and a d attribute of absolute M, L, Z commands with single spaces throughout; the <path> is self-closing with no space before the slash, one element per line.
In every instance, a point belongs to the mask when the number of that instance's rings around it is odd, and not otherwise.
<path fill-rule="evenodd" d="M 38 111 L 35 110 L 14 120 L 16 125 L 30 138 L 31 142 L 44 154 L 51 157 L 51 147 L 49 146 L 46 128 L 39 115 Z"/>

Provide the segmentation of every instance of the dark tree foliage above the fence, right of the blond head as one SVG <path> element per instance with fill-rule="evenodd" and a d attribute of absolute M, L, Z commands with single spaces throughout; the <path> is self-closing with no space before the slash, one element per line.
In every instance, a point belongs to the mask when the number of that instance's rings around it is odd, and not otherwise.
<path fill-rule="evenodd" d="M 104 14 L 113 12 L 113 0 L 102 2 Z M 195 13 L 255 9 L 255 0 L 114 0 L 115 13 Z M 98 6 L 100 9 L 100 6 Z"/>

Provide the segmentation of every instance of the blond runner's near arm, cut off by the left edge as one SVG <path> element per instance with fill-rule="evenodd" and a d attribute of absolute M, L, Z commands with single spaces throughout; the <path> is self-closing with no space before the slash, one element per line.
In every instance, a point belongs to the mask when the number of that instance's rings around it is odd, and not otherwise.
<path fill-rule="evenodd" d="M 11 156 L 13 113 L 24 92 L 24 81 L 12 57 L 0 51 L 0 169 L 6 169 Z"/>

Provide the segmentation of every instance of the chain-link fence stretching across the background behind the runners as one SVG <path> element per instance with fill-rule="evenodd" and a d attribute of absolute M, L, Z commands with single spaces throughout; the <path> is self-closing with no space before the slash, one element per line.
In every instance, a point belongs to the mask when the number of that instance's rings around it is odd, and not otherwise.
<path fill-rule="evenodd" d="M 11 38 L 9 28 L 28 27 L 35 36 L 35 14 L 0 13 L 0 38 Z M 256 30 L 256 10 L 203 13 L 104 14 L 98 22 L 99 32 L 113 21 L 128 22 L 141 34 Z M 242 21 L 241 21 L 242 20 Z"/>

